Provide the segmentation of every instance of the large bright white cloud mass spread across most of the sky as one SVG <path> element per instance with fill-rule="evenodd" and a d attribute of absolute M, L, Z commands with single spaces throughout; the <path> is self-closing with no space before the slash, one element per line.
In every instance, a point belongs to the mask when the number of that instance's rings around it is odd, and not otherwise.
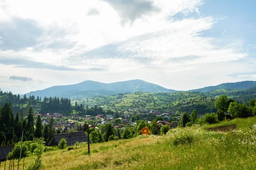
<path fill-rule="evenodd" d="M 150 6 L 137 8 L 131 7 L 132 3 L 127 5 L 119 1 L 119 4 L 113 4 L 102 0 L 8 0 L 4 7 L 0 7 L 0 23 L 4 28 L 17 27 L 17 20 L 13 17 L 18 17 L 35 22 L 35 29 L 41 31 L 36 34 L 34 45 L 0 50 L 0 61 L 26 59 L 79 71 L 51 70 L 52 67 L 48 70 L 20 68 L 17 65 L 2 65 L 0 71 L 5 69 L 3 76 L 6 77 L 19 73 L 35 80 L 40 75 L 43 83 L 36 88 L 73 84 L 83 79 L 115 82 L 140 77 L 167 88 L 185 90 L 198 88 L 196 79 L 207 74 L 221 77 L 219 82 L 241 79 L 227 77 L 237 70 L 224 63 L 234 65 L 230 62 L 247 57 L 241 52 L 242 42 L 218 46 L 215 43 L 218 39 L 201 35 L 202 31 L 211 30 L 220 19 L 204 15 L 174 19 L 175 14 L 180 13 L 185 16 L 193 11 L 200 14 L 202 0 L 143 1 L 150 2 Z M 136 5 L 140 1 L 130 2 Z M 122 11 L 117 9 L 120 6 Z M 126 8 L 136 9 L 134 12 L 138 13 L 125 11 Z M 137 11 L 140 9 L 146 11 Z M 124 24 L 124 20 L 129 24 Z M 1 39 L 0 49 L 5 40 L 5 37 Z M 201 73 L 202 65 L 207 65 L 204 74 Z M 216 71 L 220 65 L 223 66 L 222 72 Z M 82 71 L 88 68 L 91 71 Z M 245 70 L 249 67 L 240 65 L 239 68 Z M 195 82 L 179 85 L 178 82 L 186 82 L 186 79 Z M 214 81 L 209 79 L 209 82 Z M 35 83 L 22 91 L 37 90 L 33 86 Z M 201 85 L 211 84 L 202 80 Z"/>

